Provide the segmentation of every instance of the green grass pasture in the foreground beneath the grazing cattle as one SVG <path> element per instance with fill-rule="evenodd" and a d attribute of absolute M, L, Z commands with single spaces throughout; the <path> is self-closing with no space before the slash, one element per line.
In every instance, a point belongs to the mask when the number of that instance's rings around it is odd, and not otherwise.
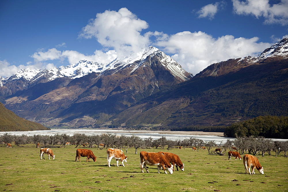
<path fill-rule="evenodd" d="M 242 160 L 208 155 L 205 150 L 170 149 L 185 164 L 184 171 L 158 174 L 156 166 L 148 168 L 150 173 L 141 172 L 139 154 L 166 149 L 139 149 L 138 154 L 128 149 L 125 167 L 117 167 L 113 159 L 111 168 L 106 149 L 90 148 L 96 162 L 86 162 L 86 157 L 75 162 L 75 146 L 51 149 L 55 160 L 48 160 L 47 154 L 40 160 L 35 145 L 0 145 L 0 191 L 288 191 L 288 160 L 280 156 L 260 155 L 264 175 L 257 170 L 246 175 Z"/>

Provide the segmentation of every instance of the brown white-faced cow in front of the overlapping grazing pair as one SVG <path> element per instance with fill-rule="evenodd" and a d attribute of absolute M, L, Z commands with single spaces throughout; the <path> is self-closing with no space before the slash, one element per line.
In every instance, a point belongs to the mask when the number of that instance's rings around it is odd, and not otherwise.
<path fill-rule="evenodd" d="M 152 153 L 141 151 L 140 152 L 140 168 L 141 172 L 144 173 L 143 167 L 146 169 L 147 173 L 149 173 L 146 165 L 157 165 L 158 173 L 160 173 L 160 167 L 163 168 L 164 172 L 166 172 L 166 168 L 168 169 L 170 174 L 173 174 L 173 165 L 171 165 L 166 158 L 166 155 L 162 153 Z"/>

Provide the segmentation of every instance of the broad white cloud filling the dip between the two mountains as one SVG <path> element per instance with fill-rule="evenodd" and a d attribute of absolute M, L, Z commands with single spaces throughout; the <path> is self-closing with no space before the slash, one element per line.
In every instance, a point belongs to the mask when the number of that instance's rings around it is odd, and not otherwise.
<path fill-rule="evenodd" d="M 235 39 L 232 35 L 214 39 L 205 32 L 184 31 L 166 36 L 156 45 L 163 47 L 163 50 L 172 54 L 185 70 L 195 75 L 213 63 L 230 58 L 253 56 L 271 45 L 257 43 L 258 40 L 257 37 Z"/>

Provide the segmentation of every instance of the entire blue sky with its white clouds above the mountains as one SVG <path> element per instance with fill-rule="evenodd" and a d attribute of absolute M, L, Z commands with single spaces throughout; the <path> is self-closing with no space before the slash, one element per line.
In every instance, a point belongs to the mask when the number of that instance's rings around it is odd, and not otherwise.
<path fill-rule="evenodd" d="M 0 0 L 0 76 L 86 59 L 109 63 L 150 45 L 194 75 L 288 37 L 288 0 Z"/>

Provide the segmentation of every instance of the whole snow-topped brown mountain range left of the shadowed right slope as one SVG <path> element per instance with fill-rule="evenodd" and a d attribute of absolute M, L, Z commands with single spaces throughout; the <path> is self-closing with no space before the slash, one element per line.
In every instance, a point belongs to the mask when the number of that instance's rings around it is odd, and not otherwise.
<path fill-rule="evenodd" d="M 80 61 L 26 71 L 2 80 L 5 106 L 46 126 L 69 127 L 106 122 L 141 99 L 192 77 L 155 47 L 109 64 Z"/>

